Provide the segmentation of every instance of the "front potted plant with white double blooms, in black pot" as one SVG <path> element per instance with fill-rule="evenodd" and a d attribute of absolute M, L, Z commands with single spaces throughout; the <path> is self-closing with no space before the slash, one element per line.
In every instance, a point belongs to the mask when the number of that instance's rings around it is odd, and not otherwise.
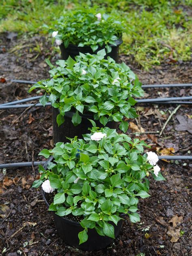
<path fill-rule="evenodd" d="M 123 215 L 131 222 L 140 220 L 139 198 L 149 196 L 151 173 L 155 180 L 164 180 L 158 156 L 143 153 L 139 139 L 131 140 L 115 129 L 98 129 L 92 122 L 91 134 L 84 139 L 70 139 L 43 149 L 39 155 L 52 157 L 41 178 L 33 187 L 42 185 L 43 197 L 53 211 L 59 235 L 81 250 L 100 250 L 117 237 Z"/>

